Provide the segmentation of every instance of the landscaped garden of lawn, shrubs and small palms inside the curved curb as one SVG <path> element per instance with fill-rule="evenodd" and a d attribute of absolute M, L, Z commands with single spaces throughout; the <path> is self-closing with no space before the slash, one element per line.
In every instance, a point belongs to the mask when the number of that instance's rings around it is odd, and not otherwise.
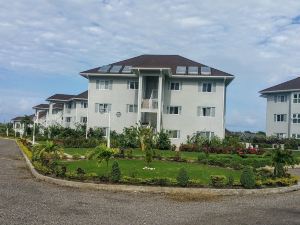
<path fill-rule="evenodd" d="M 73 132 L 73 131 L 72 131 Z M 287 166 L 299 162 L 290 150 L 245 148 L 236 137 L 208 140 L 188 138 L 179 149 L 164 131 L 155 135 L 150 127 L 112 132 L 112 148 L 106 147 L 101 131 L 89 131 L 89 139 L 60 132 L 52 140 L 32 146 L 26 139 L 19 146 L 42 174 L 61 179 L 135 185 L 181 187 L 265 188 L 290 186 L 297 178 Z"/>

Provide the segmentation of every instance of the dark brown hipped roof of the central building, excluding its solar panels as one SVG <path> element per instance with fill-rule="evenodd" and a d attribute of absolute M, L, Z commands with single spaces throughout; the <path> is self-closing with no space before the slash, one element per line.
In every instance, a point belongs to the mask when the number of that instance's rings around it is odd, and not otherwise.
<path fill-rule="evenodd" d="M 195 62 L 193 60 L 187 59 L 180 55 L 140 55 L 130 59 L 122 60 L 119 62 L 112 63 L 110 65 L 121 65 L 121 66 L 132 66 L 138 68 L 169 68 L 172 71 L 172 74 L 176 74 L 177 66 L 195 66 L 195 67 L 204 67 L 201 63 Z M 101 66 L 100 66 L 101 67 Z M 96 67 L 90 70 L 81 72 L 80 74 L 99 74 L 98 71 L 100 67 Z M 211 67 L 210 67 L 211 68 Z M 210 76 L 229 76 L 233 75 L 225 73 L 221 70 L 211 68 Z"/>

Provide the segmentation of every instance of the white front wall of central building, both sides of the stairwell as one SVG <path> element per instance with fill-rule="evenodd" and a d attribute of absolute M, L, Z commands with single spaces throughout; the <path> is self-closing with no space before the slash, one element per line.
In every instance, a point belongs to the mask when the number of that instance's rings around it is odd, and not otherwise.
<path fill-rule="evenodd" d="M 112 89 L 97 90 L 97 79 L 112 80 Z M 127 104 L 138 105 L 138 90 L 127 89 L 128 80 L 138 81 L 138 78 L 89 77 L 88 127 L 108 127 L 107 114 L 96 113 L 95 103 L 111 104 L 111 130 L 122 132 L 124 127 L 136 124 L 138 113 L 127 113 Z M 172 143 L 176 145 L 184 143 L 187 135 L 193 135 L 197 131 L 214 132 L 216 136 L 224 138 L 224 108 L 226 98 L 224 78 L 177 78 L 176 81 L 182 84 L 182 89 L 179 91 L 169 90 L 169 81 L 170 78 L 165 78 L 163 81 L 161 128 L 165 130 L 180 130 L 180 138 L 171 139 Z M 199 91 L 200 81 L 216 82 L 215 92 Z M 181 115 L 167 114 L 166 107 L 169 105 L 181 106 Z M 215 117 L 198 116 L 198 106 L 215 107 Z M 116 116 L 117 112 L 121 113 L 120 117 Z"/>

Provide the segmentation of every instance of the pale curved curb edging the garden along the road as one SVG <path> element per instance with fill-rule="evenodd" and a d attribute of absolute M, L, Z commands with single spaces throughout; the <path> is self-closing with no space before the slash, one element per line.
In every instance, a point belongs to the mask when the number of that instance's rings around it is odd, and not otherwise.
<path fill-rule="evenodd" d="M 290 187 L 279 188 L 264 188 L 264 189 L 215 189 L 215 188 L 180 188 L 180 187 L 159 187 L 159 186 L 136 186 L 136 185 L 124 185 L 124 184 L 95 184 L 85 183 L 78 181 L 69 181 L 56 179 L 53 177 L 44 176 L 38 173 L 31 164 L 25 153 L 19 148 L 25 158 L 26 164 L 31 174 L 38 180 L 45 181 L 51 184 L 56 184 L 64 187 L 92 189 L 92 190 L 105 190 L 105 191 L 123 191 L 123 192 L 143 192 L 143 193 L 155 193 L 155 194 L 211 194 L 218 196 L 230 196 L 230 195 L 266 195 L 266 194 L 278 194 L 287 193 L 300 190 L 300 183 Z"/>

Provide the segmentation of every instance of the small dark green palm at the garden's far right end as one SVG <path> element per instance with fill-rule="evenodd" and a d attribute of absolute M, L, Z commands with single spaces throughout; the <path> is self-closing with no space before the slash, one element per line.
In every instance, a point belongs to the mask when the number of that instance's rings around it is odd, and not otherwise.
<path fill-rule="evenodd" d="M 292 151 L 275 149 L 272 153 L 272 165 L 274 167 L 275 177 L 285 177 L 287 175 L 285 166 L 296 164 Z"/>

